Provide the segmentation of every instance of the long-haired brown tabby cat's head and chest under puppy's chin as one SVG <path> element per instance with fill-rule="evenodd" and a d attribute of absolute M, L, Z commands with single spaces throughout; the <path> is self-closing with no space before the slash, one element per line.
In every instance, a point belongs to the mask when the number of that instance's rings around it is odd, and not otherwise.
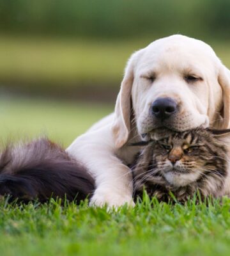
<path fill-rule="evenodd" d="M 132 168 L 135 198 L 144 189 L 165 202 L 170 191 L 179 202 L 196 191 L 201 198 L 229 195 L 228 138 L 230 130 L 195 129 L 134 144 L 146 145 Z"/>

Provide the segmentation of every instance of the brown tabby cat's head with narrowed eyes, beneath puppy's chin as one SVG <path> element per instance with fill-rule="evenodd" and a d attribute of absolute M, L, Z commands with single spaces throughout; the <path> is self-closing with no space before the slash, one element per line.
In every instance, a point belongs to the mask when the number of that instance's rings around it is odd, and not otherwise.
<path fill-rule="evenodd" d="M 195 129 L 175 132 L 154 140 L 152 163 L 158 174 L 174 187 L 187 186 L 205 175 L 226 175 L 227 146 L 230 130 Z"/>

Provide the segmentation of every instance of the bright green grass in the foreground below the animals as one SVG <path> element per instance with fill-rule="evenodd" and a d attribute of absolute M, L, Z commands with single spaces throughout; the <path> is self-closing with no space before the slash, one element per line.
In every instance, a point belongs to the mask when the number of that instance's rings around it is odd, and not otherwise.
<path fill-rule="evenodd" d="M 0 206 L 1 255 L 229 255 L 230 200 L 148 200 L 118 212 L 86 204 Z"/>

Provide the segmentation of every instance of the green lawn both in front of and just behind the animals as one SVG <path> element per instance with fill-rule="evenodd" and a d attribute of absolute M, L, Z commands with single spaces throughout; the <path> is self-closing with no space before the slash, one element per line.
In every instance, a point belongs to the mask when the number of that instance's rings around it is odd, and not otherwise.
<path fill-rule="evenodd" d="M 4 97 L 5 141 L 47 134 L 68 145 L 112 106 Z M 1 255 L 229 255 L 230 199 L 195 205 L 138 203 L 118 212 L 0 201 Z"/>

